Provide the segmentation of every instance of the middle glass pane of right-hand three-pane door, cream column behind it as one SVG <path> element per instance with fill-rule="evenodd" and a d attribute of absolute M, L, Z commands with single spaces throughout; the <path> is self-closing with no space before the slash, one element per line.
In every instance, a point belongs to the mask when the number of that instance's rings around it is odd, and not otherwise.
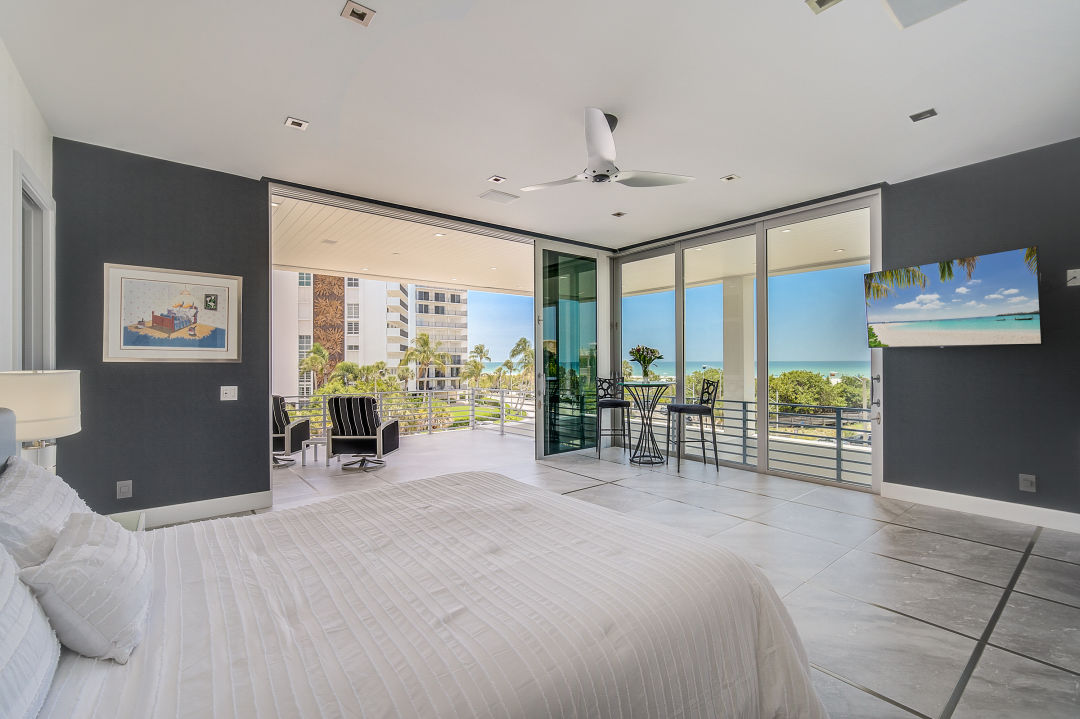
<path fill-rule="evenodd" d="M 716 402 L 721 461 L 757 462 L 757 239 L 753 234 L 684 250 L 686 401 L 704 380 L 720 382 Z M 706 425 L 707 426 L 707 425 Z M 701 423 L 686 429 L 685 457 L 702 460 Z M 699 443 L 699 444 L 694 444 Z M 708 448 L 708 461 L 713 461 Z"/>

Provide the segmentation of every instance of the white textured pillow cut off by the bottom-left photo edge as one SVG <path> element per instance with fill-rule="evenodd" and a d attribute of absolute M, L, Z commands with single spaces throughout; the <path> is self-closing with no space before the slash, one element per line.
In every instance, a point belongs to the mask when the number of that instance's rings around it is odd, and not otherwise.
<path fill-rule="evenodd" d="M 0 715 L 38 716 L 60 659 L 60 645 L 18 567 L 0 547 Z"/>

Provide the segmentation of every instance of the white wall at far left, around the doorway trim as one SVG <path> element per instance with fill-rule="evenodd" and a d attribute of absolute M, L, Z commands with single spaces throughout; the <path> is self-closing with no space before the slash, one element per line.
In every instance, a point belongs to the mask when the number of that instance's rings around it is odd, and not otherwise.
<path fill-rule="evenodd" d="M 22 212 L 23 193 L 15 187 L 16 152 L 52 196 L 53 135 L 0 40 L 0 371 L 15 367 L 14 312 L 21 306 L 14 258 L 15 208 Z"/>

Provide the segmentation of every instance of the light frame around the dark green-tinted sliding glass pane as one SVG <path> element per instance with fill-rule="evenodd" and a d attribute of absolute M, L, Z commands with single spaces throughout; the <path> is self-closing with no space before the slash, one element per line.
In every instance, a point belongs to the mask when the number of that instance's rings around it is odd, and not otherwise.
<path fill-rule="evenodd" d="M 575 255 L 596 260 L 596 367 L 608 368 L 611 364 L 611 344 L 607 341 L 613 333 L 611 321 L 611 258 L 613 250 L 584 247 L 554 240 L 536 240 L 532 243 L 532 347 L 536 352 L 532 369 L 534 403 L 535 403 L 535 442 L 536 459 L 548 457 L 544 453 L 544 368 L 543 368 L 543 252 L 551 249 L 565 255 Z"/>

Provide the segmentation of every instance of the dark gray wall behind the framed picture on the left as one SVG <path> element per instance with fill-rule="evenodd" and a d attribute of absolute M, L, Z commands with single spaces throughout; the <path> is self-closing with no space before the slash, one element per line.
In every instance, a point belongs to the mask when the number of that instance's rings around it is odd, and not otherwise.
<path fill-rule="evenodd" d="M 102 513 L 269 490 L 266 184 L 64 139 L 53 182 L 56 366 L 82 370 L 82 432 L 59 440 L 58 474 Z M 105 262 L 241 275 L 243 362 L 103 363 Z"/>

